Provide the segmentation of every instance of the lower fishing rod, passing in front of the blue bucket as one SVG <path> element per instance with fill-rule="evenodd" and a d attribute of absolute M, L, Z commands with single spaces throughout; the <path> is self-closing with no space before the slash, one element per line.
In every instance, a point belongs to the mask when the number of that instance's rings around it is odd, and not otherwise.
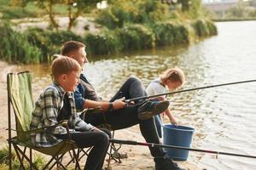
<path fill-rule="evenodd" d="M 188 148 L 188 147 L 175 146 L 175 145 L 143 143 L 143 142 L 137 142 L 137 141 L 133 141 L 133 140 L 109 139 L 109 142 L 112 142 L 114 144 L 130 144 L 130 145 L 142 145 L 142 146 L 148 146 L 148 147 L 172 148 L 172 149 L 177 149 L 177 150 L 190 150 L 190 151 L 211 153 L 211 154 L 217 154 L 217 155 L 240 156 L 240 157 L 248 157 L 248 158 L 256 159 L 256 156 L 248 156 L 248 155 L 216 151 L 216 150 L 201 150 L 201 149 Z"/>

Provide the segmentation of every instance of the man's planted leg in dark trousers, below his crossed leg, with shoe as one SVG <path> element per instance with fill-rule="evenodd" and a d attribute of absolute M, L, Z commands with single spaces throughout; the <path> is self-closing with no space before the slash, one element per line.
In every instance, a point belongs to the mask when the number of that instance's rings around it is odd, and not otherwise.
<path fill-rule="evenodd" d="M 107 112 L 106 117 L 108 123 L 114 130 L 123 129 L 139 124 L 143 138 L 148 143 L 160 144 L 156 127 L 154 125 L 154 118 L 151 117 L 147 120 L 140 121 L 137 118 L 138 105 L 128 106 L 123 110 Z M 181 170 L 177 164 L 172 162 L 166 156 L 166 152 L 160 147 L 149 147 L 151 156 L 154 157 L 156 170 Z"/>

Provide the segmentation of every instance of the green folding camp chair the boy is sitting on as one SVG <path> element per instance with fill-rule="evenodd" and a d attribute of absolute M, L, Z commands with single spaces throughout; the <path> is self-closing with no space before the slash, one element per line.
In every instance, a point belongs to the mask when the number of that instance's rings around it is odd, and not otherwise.
<path fill-rule="evenodd" d="M 24 162 L 29 163 L 30 169 L 38 169 L 32 162 L 32 150 L 36 150 L 47 156 L 51 156 L 49 161 L 45 164 L 43 169 L 51 169 L 55 165 L 61 166 L 67 169 L 61 162 L 62 157 L 67 151 L 73 151 L 73 159 L 75 160 L 76 167 L 79 168 L 78 157 L 75 153 L 77 145 L 73 140 L 62 140 L 60 144 L 56 144 L 52 147 L 36 147 L 32 145 L 30 134 L 40 133 L 48 128 L 52 128 L 60 125 L 67 125 L 67 122 L 60 122 L 52 127 L 38 128 L 30 130 L 29 125 L 32 118 L 32 76 L 28 71 L 20 73 L 9 73 L 7 75 L 8 86 L 8 119 L 9 119 L 9 155 L 11 155 L 11 147 L 13 146 L 17 157 L 20 161 L 20 169 L 26 169 Z M 13 112 L 15 113 L 15 128 L 11 124 L 11 106 L 13 106 Z M 11 130 L 15 130 L 16 136 L 12 137 Z M 68 129 L 67 129 L 68 130 Z M 29 153 L 26 153 L 26 149 L 29 149 Z M 23 150 L 22 150 L 23 149 Z M 27 156 L 28 155 L 28 156 Z M 12 169 L 12 156 L 9 156 L 9 169 Z"/>

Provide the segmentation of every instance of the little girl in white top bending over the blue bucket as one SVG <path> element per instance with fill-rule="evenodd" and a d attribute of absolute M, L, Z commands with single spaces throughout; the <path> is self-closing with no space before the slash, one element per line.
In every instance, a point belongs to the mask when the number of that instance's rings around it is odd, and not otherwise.
<path fill-rule="evenodd" d="M 160 74 L 158 78 L 154 79 L 154 81 L 149 83 L 148 88 L 146 88 L 146 92 L 148 96 L 155 95 L 155 94 L 164 94 L 166 93 L 167 89 L 172 91 L 172 90 L 175 90 L 176 88 L 183 86 L 184 82 L 185 82 L 185 77 L 181 69 L 177 67 L 167 69 L 162 74 Z M 153 99 L 164 100 L 166 99 L 166 96 L 160 96 Z M 170 109 L 167 109 L 166 111 L 164 111 L 162 115 L 168 116 L 170 122 L 172 124 L 177 125 L 177 122 L 174 116 L 172 116 Z M 162 131 L 161 131 L 162 120 L 160 115 L 154 116 L 154 122 L 158 131 L 158 135 L 160 138 L 162 138 Z"/>

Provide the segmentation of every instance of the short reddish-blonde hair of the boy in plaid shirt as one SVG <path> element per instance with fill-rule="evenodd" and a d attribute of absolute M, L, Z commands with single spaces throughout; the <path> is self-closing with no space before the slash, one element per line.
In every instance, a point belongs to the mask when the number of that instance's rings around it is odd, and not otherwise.
<path fill-rule="evenodd" d="M 51 64 L 51 72 L 54 80 L 57 80 L 62 74 L 68 74 L 72 71 L 80 71 L 81 66 L 75 59 L 59 55 Z"/>

